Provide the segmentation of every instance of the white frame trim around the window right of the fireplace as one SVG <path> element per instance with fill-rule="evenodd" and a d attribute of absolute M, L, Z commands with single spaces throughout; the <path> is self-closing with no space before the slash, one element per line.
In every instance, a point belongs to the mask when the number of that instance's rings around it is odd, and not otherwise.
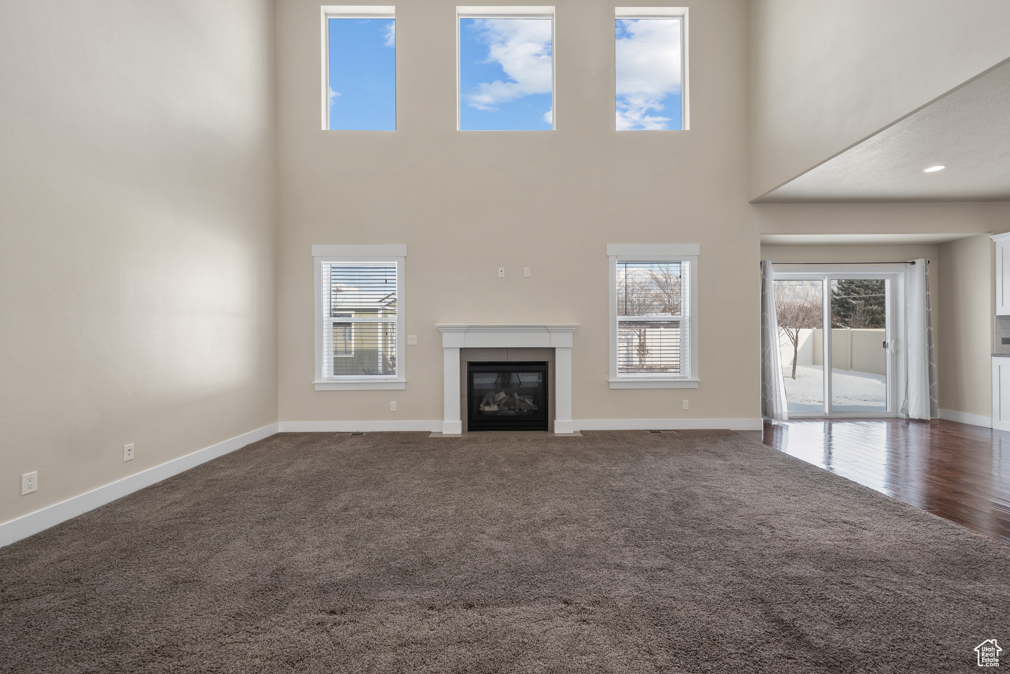
<path fill-rule="evenodd" d="M 698 388 L 698 256 L 697 244 L 609 244 L 610 265 L 610 388 Z M 617 263 L 618 262 L 687 262 L 688 265 L 688 354 L 681 354 L 681 363 L 689 371 L 679 376 L 629 377 L 617 374 Z M 644 316 L 643 316 L 644 318 Z"/>

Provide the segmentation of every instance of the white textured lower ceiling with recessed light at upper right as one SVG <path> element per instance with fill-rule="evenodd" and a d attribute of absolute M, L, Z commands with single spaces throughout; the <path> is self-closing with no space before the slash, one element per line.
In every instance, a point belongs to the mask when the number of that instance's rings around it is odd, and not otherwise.
<path fill-rule="evenodd" d="M 753 203 L 843 201 L 1010 201 L 1010 63 Z"/>

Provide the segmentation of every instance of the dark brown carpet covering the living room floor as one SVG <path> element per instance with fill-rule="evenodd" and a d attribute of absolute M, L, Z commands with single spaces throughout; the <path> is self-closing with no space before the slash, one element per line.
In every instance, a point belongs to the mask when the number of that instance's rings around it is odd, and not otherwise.
<path fill-rule="evenodd" d="M 16 672 L 969 672 L 1010 640 L 1010 547 L 729 431 L 281 434 L 0 574 Z"/>

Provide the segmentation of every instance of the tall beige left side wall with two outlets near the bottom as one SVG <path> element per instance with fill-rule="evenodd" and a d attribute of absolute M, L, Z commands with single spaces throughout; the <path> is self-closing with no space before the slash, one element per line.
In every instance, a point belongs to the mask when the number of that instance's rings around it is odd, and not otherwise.
<path fill-rule="evenodd" d="M 0 522 L 277 419 L 271 20 L 0 5 Z"/>

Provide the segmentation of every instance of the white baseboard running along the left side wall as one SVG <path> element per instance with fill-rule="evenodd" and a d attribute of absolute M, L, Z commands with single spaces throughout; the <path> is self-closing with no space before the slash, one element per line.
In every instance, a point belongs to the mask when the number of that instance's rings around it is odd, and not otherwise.
<path fill-rule="evenodd" d="M 184 457 L 173 459 L 172 461 L 166 462 L 161 466 L 155 466 L 154 468 L 148 468 L 145 471 L 140 471 L 139 473 L 135 473 L 129 477 L 124 477 L 121 480 L 116 480 L 115 482 L 107 484 L 103 487 L 92 489 L 91 491 L 83 493 L 80 496 L 68 498 L 66 501 L 54 503 L 53 505 L 48 505 L 40 510 L 35 510 L 34 512 L 29 512 L 26 515 L 17 517 L 16 519 L 5 521 L 0 524 L 0 548 L 8 546 L 15 541 L 27 538 L 32 534 L 44 531 L 49 526 L 55 526 L 62 521 L 76 517 L 79 514 L 87 512 L 88 510 L 93 510 L 99 505 L 105 505 L 106 503 L 110 503 L 117 498 L 122 498 L 123 496 L 138 489 L 149 487 L 150 485 L 170 478 L 173 475 L 178 475 L 183 471 L 188 471 L 190 468 L 199 466 L 200 464 L 206 463 L 211 459 L 222 457 L 229 452 L 239 450 L 246 445 L 261 441 L 264 438 L 270 438 L 277 431 L 278 424 L 271 423 L 270 425 L 265 425 L 262 428 L 257 428 L 256 430 L 250 430 L 246 434 L 242 434 L 241 436 L 236 436 L 235 438 L 226 440 L 223 443 L 211 445 L 203 450 L 198 450 L 197 452 L 187 454 Z"/>

